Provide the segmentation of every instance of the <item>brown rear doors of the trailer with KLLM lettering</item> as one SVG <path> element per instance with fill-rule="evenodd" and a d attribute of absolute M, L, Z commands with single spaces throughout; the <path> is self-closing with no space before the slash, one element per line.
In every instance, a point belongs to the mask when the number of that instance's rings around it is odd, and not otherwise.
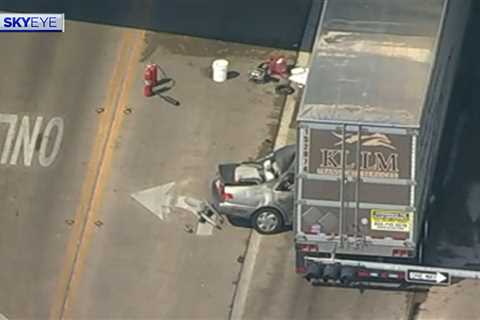
<path fill-rule="evenodd" d="M 316 123 L 299 133 L 297 234 L 337 240 L 337 252 L 394 255 L 369 244 L 413 247 L 414 132 Z"/>

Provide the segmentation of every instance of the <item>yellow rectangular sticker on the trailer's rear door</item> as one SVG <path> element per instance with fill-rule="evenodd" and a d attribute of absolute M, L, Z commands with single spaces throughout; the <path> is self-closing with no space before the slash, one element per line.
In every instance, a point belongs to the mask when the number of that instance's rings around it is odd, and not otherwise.
<path fill-rule="evenodd" d="M 370 210 L 370 229 L 378 231 L 410 232 L 412 212 L 398 210 Z"/>

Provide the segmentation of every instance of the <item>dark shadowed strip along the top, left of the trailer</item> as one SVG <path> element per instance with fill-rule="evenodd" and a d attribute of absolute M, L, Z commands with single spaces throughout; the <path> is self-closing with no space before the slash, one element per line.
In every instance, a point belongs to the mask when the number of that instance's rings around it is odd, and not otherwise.
<path fill-rule="evenodd" d="M 0 10 L 295 49 L 312 0 L 0 0 Z M 68 32 L 68 30 L 67 30 Z M 304 48 L 308 49 L 308 48 Z"/>

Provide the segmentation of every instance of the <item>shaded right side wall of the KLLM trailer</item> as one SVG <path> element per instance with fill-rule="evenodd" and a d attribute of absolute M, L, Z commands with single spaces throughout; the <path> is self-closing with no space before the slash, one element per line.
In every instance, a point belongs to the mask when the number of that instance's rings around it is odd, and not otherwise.
<path fill-rule="evenodd" d="M 444 8 L 444 24 L 440 36 L 435 69 L 432 73 L 429 94 L 425 101 L 424 114 L 418 143 L 416 188 L 418 212 L 428 204 L 434 170 L 439 156 L 445 116 L 459 65 L 464 32 L 471 8 L 470 0 L 450 0 Z M 432 155 L 435 155 L 432 157 Z M 422 218 L 417 215 L 417 218 Z M 415 223 L 422 228 L 421 221 Z M 417 230 L 415 234 L 419 234 Z"/>

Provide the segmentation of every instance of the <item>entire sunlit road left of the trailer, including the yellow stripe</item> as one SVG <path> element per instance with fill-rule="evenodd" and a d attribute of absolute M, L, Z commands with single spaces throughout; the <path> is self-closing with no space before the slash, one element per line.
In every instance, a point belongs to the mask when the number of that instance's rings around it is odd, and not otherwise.
<path fill-rule="evenodd" d="M 2 316 L 227 317 L 249 230 L 197 228 L 185 200 L 271 148 L 283 99 L 246 74 L 281 52 L 80 22 L 1 41 Z M 215 57 L 239 76 L 211 81 Z M 180 106 L 143 96 L 148 62 Z"/>

